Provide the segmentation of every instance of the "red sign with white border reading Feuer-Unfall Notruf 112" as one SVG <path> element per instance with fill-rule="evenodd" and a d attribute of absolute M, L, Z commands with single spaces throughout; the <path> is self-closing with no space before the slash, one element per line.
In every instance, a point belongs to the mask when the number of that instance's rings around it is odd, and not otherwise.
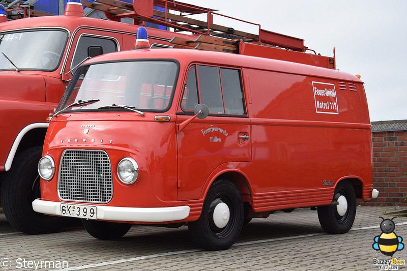
<path fill-rule="evenodd" d="M 339 114 L 335 85 L 323 82 L 312 82 L 315 99 L 315 110 L 323 114 Z"/>

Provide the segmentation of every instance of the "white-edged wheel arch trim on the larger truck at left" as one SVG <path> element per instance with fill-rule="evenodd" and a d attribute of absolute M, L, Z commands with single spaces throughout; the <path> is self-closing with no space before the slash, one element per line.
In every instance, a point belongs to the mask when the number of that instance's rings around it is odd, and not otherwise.
<path fill-rule="evenodd" d="M 48 126 L 48 123 L 34 123 L 27 125 L 18 133 L 5 163 L 6 171 L 10 170 L 15 156 L 22 150 L 44 144 Z"/>

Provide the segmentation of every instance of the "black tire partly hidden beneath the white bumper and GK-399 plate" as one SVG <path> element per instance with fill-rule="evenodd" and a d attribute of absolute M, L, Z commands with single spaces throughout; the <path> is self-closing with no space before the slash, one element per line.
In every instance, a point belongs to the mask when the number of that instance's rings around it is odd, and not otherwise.
<path fill-rule="evenodd" d="M 123 237 L 131 228 L 132 224 L 114 223 L 82 219 L 83 227 L 93 237 L 101 240 L 112 240 Z"/>

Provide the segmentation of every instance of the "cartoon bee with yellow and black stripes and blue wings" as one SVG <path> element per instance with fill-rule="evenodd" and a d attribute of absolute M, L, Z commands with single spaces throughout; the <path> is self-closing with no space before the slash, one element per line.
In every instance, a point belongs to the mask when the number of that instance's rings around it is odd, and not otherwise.
<path fill-rule="evenodd" d="M 396 217 L 392 219 L 380 218 L 383 219 L 382 223 L 380 223 L 382 234 L 374 237 L 372 248 L 374 250 L 380 250 L 380 252 L 386 256 L 393 257 L 394 252 L 404 248 L 404 244 L 401 243 L 403 238 L 394 233 L 396 225 L 394 224 L 393 219 Z"/>

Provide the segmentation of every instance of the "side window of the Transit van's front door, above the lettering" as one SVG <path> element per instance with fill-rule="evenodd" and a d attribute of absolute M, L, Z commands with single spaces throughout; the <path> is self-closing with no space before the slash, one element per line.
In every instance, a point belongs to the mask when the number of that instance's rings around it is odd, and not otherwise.
<path fill-rule="evenodd" d="M 181 108 L 205 104 L 211 114 L 246 114 L 240 70 L 194 65 L 190 68 Z"/>

